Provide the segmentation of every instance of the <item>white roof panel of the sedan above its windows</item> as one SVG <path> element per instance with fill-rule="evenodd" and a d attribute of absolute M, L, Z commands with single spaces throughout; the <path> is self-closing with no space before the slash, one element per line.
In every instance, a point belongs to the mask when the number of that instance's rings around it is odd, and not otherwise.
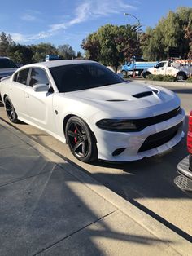
<path fill-rule="evenodd" d="M 51 61 L 45 61 L 45 62 L 39 62 L 39 63 L 34 63 L 34 64 L 28 64 L 23 66 L 24 67 L 46 67 L 46 68 L 54 68 L 58 66 L 63 66 L 63 65 L 72 65 L 72 64 L 89 64 L 89 63 L 96 63 L 95 61 L 92 60 L 51 60 Z"/>

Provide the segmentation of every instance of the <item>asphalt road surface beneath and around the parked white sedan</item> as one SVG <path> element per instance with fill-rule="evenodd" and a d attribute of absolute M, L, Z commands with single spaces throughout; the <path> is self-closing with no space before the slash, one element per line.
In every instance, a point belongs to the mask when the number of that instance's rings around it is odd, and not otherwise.
<path fill-rule="evenodd" d="M 192 89 L 170 87 L 181 98 L 181 106 L 187 115 L 190 112 Z M 0 117 L 8 121 L 4 108 L 0 108 Z M 72 156 L 67 145 L 63 145 L 45 132 L 26 124 L 14 125 L 31 138 L 57 152 L 82 171 L 91 174 L 94 179 L 103 183 L 107 188 L 123 196 L 138 208 L 151 214 L 164 223 L 168 228 L 186 239 L 191 239 L 192 200 L 181 192 L 173 183 L 177 175 L 177 163 L 187 156 L 185 138 L 175 148 L 156 157 L 126 164 L 110 164 L 97 161 L 92 165 L 81 163 Z M 98 205 L 101 207 L 101 205 Z"/>

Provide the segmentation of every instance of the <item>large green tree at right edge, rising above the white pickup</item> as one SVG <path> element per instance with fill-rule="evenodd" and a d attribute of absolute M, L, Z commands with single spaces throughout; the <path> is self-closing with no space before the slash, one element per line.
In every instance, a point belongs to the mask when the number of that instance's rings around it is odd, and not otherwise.
<path fill-rule="evenodd" d="M 179 7 L 142 34 L 141 48 L 146 60 L 165 60 L 170 46 L 179 48 L 181 58 L 187 58 L 191 42 L 192 8 Z"/>

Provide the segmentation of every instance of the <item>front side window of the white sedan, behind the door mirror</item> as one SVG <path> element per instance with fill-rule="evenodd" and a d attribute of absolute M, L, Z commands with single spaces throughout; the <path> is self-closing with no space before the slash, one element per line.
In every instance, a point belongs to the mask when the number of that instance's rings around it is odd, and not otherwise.
<path fill-rule="evenodd" d="M 32 68 L 30 79 L 29 79 L 29 86 L 33 87 L 35 85 L 49 85 L 49 79 L 46 76 L 45 70 L 41 68 Z"/>

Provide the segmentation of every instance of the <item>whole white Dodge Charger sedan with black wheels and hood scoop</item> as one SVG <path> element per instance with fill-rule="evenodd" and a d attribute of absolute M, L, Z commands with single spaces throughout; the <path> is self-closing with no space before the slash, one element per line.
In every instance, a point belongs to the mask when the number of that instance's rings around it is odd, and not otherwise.
<path fill-rule="evenodd" d="M 185 121 L 172 91 L 124 82 L 88 60 L 25 65 L 0 83 L 7 116 L 68 143 L 79 160 L 134 161 L 175 146 Z"/>

